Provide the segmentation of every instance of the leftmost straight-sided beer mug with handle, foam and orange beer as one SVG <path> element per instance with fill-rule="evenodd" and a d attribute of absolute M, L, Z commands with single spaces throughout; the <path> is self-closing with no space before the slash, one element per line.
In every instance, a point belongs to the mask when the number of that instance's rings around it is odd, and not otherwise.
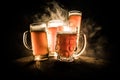
<path fill-rule="evenodd" d="M 30 34 L 29 34 L 30 33 Z M 28 36 L 30 35 L 31 44 L 28 44 Z M 32 23 L 30 30 L 23 33 L 24 46 L 33 51 L 35 61 L 43 61 L 48 59 L 48 42 L 46 33 L 46 23 Z M 30 47 L 30 45 L 32 47 Z"/>

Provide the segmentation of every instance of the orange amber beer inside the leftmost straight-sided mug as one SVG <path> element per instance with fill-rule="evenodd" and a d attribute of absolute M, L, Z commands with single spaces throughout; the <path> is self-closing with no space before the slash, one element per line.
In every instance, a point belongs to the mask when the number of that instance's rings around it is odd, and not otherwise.
<path fill-rule="evenodd" d="M 35 56 L 48 54 L 47 35 L 44 28 L 31 30 L 32 50 Z"/>

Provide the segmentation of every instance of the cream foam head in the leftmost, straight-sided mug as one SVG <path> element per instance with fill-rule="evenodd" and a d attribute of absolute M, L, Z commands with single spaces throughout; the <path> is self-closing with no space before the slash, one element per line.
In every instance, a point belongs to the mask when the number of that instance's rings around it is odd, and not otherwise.
<path fill-rule="evenodd" d="M 33 23 L 33 24 L 30 24 L 30 31 L 44 31 L 45 27 L 46 27 L 45 23 L 42 23 L 42 24 Z"/>

